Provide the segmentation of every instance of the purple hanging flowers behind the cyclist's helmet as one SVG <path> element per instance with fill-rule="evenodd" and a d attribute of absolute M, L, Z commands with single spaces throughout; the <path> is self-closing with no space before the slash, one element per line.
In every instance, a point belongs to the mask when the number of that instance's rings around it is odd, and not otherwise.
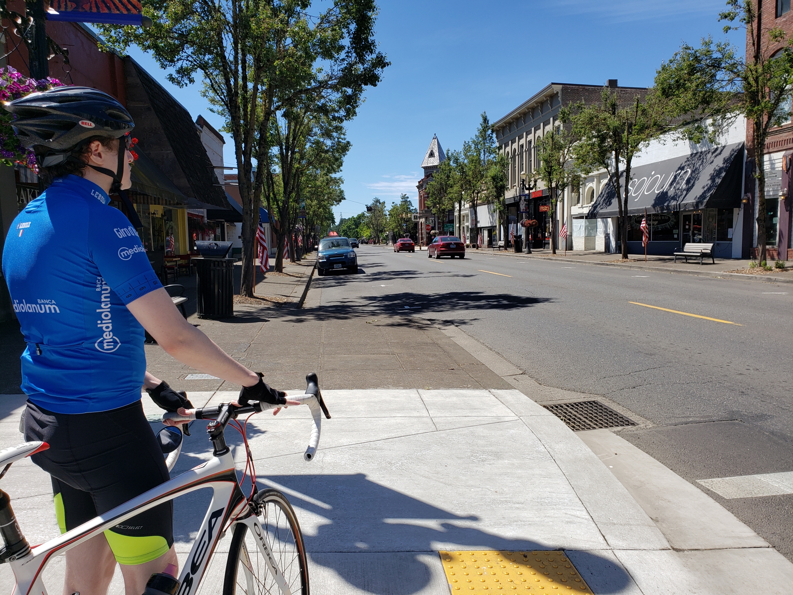
<path fill-rule="evenodd" d="M 10 66 L 0 68 L 0 101 L 2 102 L 11 102 L 36 91 L 44 91 L 56 86 L 63 86 L 63 83 L 50 77 L 41 80 L 29 79 Z M 14 134 L 11 127 L 14 118 L 16 116 L 13 113 L 0 109 L 0 163 L 10 166 L 20 163 L 37 174 L 39 167 L 36 164 L 36 155 L 23 147 Z"/>

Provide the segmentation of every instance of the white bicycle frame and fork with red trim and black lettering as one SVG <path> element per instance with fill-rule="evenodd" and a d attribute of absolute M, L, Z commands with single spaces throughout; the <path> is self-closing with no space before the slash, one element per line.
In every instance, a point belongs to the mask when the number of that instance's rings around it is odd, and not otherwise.
<path fill-rule="evenodd" d="M 283 595 L 292 595 L 289 585 L 286 584 L 282 571 L 278 568 L 278 563 L 264 539 L 265 530 L 259 524 L 259 518 L 251 512 L 246 498 L 239 489 L 234 457 L 231 452 L 213 456 L 207 463 L 193 467 L 193 469 L 132 498 L 115 509 L 63 533 L 62 536 L 31 547 L 27 555 L 18 559 L 10 559 L 8 563 L 16 579 L 13 595 L 47 595 L 47 589 L 44 587 L 41 577 L 48 562 L 56 555 L 71 550 L 72 547 L 98 536 L 105 529 L 112 529 L 115 525 L 144 512 L 144 510 L 205 487 L 213 489 L 212 501 L 201 523 L 197 539 L 193 542 L 190 556 L 179 575 L 181 586 L 178 595 L 194 593 L 194 588 L 197 588 L 197 585 L 201 583 L 201 577 L 204 575 L 209 559 L 212 558 L 218 540 L 237 523 L 247 524 L 255 536 L 255 541 L 259 545 L 259 550 L 262 552 L 263 559 L 276 584 L 281 588 Z M 232 521 L 230 524 L 229 520 Z"/>

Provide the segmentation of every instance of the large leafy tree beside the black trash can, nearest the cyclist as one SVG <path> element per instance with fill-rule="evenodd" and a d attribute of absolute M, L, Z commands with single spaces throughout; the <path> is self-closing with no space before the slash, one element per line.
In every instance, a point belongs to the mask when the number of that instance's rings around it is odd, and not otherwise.
<path fill-rule="evenodd" d="M 152 26 L 100 27 L 118 52 L 151 52 L 171 83 L 196 75 L 232 136 L 243 205 L 241 293 L 255 285 L 255 231 L 270 152 L 268 129 L 278 106 L 303 97 L 333 98 L 354 117 L 363 90 L 376 86 L 388 61 L 374 40 L 375 0 L 143 0 Z M 323 10 L 324 9 L 324 10 Z M 313 13 L 313 15 L 312 15 Z"/>

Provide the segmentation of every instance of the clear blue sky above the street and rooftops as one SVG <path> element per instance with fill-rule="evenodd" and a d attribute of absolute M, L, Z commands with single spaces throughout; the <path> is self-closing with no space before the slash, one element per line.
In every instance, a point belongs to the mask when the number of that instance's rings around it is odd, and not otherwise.
<path fill-rule="evenodd" d="M 352 148 L 342 175 L 351 217 L 372 198 L 401 193 L 417 203 L 421 162 L 436 133 L 444 150 L 473 136 L 480 114 L 491 121 L 548 83 L 649 86 L 656 68 L 680 47 L 709 34 L 722 38 L 724 0 L 380 0 L 377 40 L 392 65 L 366 91 L 347 126 Z M 741 32 L 730 33 L 741 45 Z M 209 113 L 200 86 L 180 89 L 154 60 L 129 52 L 193 118 Z M 230 141 L 230 139 L 229 139 Z M 225 161 L 236 165 L 231 144 Z"/>

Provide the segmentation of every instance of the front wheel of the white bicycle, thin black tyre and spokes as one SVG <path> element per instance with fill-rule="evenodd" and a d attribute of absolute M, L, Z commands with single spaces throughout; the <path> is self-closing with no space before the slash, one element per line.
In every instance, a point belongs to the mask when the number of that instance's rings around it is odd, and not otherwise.
<path fill-rule="evenodd" d="M 308 595 L 308 565 L 300 525 L 292 505 L 277 489 L 263 489 L 254 496 L 256 516 L 262 524 L 264 538 L 286 585 L 293 595 Z M 256 545 L 255 535 L 247 525 L 234 529 L 228 549 L 223 595 L 281 595 L 264 555 Z"/>

